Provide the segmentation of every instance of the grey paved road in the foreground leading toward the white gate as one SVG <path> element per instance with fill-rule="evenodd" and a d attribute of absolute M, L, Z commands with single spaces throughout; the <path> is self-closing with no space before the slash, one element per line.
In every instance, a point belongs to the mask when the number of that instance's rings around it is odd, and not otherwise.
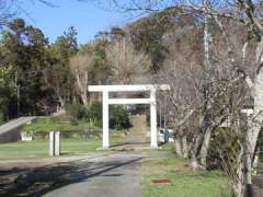
<path fill-rule="evenodd" d="M 45 197 L 142 197 L 139 152 L 121 152 L 81 160 L 79 171 L 68 174 L 68 184 Z"/>

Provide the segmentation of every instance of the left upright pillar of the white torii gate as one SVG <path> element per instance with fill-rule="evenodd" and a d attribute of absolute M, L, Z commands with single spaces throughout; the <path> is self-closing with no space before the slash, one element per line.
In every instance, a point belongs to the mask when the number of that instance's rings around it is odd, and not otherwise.
<path fill-rule="evenodd" d="M 102 106 L 102 116 L 103 116 L 103 136 L 102 136 L 102 148 L 107 149 L 110 147 L 108 141 L 108 92 L 103 91 L 103 106 Z"/>

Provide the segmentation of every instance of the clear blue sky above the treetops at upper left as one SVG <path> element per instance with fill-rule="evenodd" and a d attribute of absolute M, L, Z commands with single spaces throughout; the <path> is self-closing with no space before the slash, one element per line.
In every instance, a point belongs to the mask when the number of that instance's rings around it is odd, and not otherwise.
<path fill-rule="evenodd" d="M 79 43 L 84 44 L 92 39 L 98 32 L 110 30 L 115 25 L 122 26 L 130 20 L 127 15 L 106 11 L 92 0 L 85 2 L 78 0 L 50 1 L 57 5 L 56 8 L 32 0 L 22 2 L 22 8 L 26 12 L 21 11 L 20 15 L 27 23 L 41 28 L 50 42 L 73 25 L 78 31 Z"/>

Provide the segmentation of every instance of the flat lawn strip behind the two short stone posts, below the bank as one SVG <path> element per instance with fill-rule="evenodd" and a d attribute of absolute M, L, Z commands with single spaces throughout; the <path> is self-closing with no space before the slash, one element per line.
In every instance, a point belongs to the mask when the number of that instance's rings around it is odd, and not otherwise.
<path fill-rule="evenodd" d="M 123 137 L 110 138 L 111 144 L 122 142 Z M 61 157 L 81 155 L 96 152 L 102 147 L 101 139 L 61 139 Z M 99 152 L 99 151 L 98 151 Z M 0 143 L 0 160 L 48 158 L 48 140 Z"/>

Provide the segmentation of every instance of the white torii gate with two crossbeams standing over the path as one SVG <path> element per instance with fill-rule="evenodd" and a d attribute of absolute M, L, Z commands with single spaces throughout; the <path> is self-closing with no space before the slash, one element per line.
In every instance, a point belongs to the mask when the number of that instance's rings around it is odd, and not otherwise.
<path fill-rule="evenodd" d="M 103 100 L 103 143 L 104 149 L 110 147 L 108 140 L 108 105 L 125 105 L 125 104 L 150 104 L 150 127 L 151 127 L 151 148 L 157 148 L 157 90 L 170 90 L 167 84 L 153 85 L 89 85 L 89 92 L 102 92 Z M 150 92 L 149 99 L 110 99 L 110 92 Z"/>

